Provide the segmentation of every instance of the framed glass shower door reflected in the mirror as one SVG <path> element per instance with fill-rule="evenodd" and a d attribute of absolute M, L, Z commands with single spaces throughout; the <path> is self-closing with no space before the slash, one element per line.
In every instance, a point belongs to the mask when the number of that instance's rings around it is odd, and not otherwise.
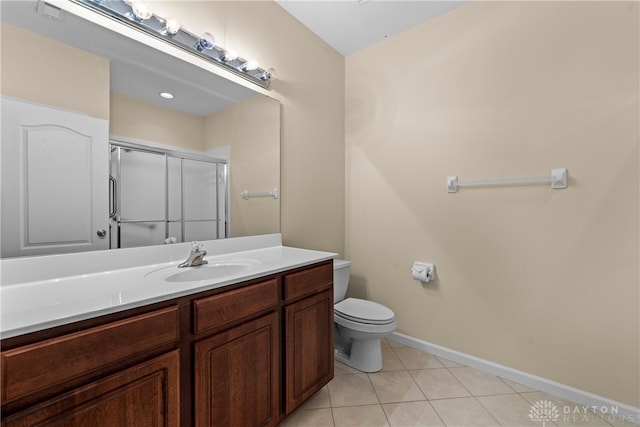
<path fill-rule="evenodd" d="M 229 236 L 225 160 L 135 144 L 111 147 L 111 247 Z"/>

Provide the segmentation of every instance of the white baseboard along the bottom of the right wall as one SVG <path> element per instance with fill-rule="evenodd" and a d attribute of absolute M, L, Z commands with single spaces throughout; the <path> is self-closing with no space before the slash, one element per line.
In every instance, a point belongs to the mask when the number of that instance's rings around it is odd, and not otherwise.
<path fill-rule="evenodd" d="M 517 369 L 509 368 L 508 366 L 500 365 L 498 363 L 442 347 L 437 344 L 422 341 L 399 332 L 394 332 L 388 339 L 417 350 L 426 351 L 427 353 L 431 353 L 435 356 L 441 356 L 444 359 L 451 360 L 452 362 L 476 368 L 480 371 L 496 375 L 509 381 L 549 393 L 553 396 L 579 403 L 580 405 L 584 405 L 589 408 L 606 408 L 609 414 L 613 413 L 613 411 L 617 411 L 616 415 L 620 419 L 634 424 L 640 424 L 640 408 L 635 408 L 631 405 L 616 402 L 584 390 L 579 390 L 546 378 L 518 371 Z"/>

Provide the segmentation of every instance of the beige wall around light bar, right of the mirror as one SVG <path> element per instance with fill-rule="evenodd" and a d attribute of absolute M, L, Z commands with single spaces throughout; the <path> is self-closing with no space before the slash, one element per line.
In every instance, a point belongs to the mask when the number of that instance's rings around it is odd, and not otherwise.
<path fill-rule="evenodd" d="M 156 1 L 154 10 L 275 68 L 283 240 L 343 252 L 344 57 L 273 1 Z"/>

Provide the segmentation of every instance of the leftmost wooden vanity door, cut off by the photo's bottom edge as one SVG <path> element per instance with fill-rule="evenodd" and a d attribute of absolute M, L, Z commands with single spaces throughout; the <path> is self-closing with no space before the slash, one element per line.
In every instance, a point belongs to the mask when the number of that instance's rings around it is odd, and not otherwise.
<path fill-rule="evenodd" d="M 2 425 L 177 427 L 179 363 L 175 350 L 32 406 Z"/>

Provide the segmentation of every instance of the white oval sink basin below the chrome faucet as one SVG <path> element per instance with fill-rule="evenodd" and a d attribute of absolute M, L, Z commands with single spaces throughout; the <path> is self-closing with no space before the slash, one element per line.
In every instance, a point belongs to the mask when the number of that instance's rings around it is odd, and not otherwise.
<path fill-rule="evenodd" d="M 250 267 L 257 264 L 259 263 L 249 260 L 209 261 L 208 264 L 197 267 L 164 268 L 147 274 L 147 276 L 172 283 L 200 282 L 203 280 L 217 280 L 241 274 L 243 271 L 248 270 Z"/>

